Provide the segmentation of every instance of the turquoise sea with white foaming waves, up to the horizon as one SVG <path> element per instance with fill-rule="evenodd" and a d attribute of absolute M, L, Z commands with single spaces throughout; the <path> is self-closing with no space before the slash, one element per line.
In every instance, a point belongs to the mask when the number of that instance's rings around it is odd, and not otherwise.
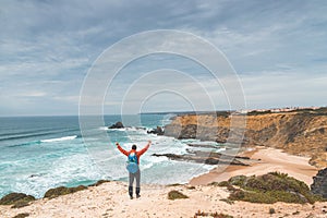
<path fill-rule="evenodd" d="M 170 118 L 105 116 L 104 125 L 89 128 L 87 134 L 82 134 L 77 116 L 0 118 L 0 197 L 11 192 L 43 197 L 51 187 L 88 185 L 100 179 L 128 181 L 126 157 L 119 153 L 114 142 L 125 149 L 133 144 L 141 149 L 148 140 L 153 141 L 141 157 L 143 184 L 185 183 L 213 169 L 213 166 L 152 156 L 185 154 L 190 149 L 187 143 L 197 143 L 147 134 L 147 130 L 169 123 Z M 124 129 L 108 129 L 122 120 Z"/>

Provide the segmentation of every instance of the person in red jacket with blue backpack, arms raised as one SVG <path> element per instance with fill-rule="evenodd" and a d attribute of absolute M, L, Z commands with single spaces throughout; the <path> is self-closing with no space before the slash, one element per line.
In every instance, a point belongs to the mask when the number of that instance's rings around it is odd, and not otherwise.
<path fill-rule="evenodd" d="M 143 155 L 150 146 L 152 144 L 152 141 L 148 141 L 147 145 L 140 152 L 136 152 L 136 145 L 133 145 L 132 146 L 132 149 L 130 152 L 128 150 L 124 150 L 120 145 L 119 143 L 116 143 L 117 145 L 117 148 L 122 153 L 124 154 L 125 156 L 128 156 L 129 158 L 129 162 L 132 162 L 135 161 L 135 166 L 136 166 L 136 169 L 132 169 L 130 170 L 128 166 L 128 169 L 129 169 L 129 179 L 130 179 L 130 185 L 129 185 L 129 194 L 130 194 L 130 197 L 131 199 L 133 199 L 133 182 L 134 182 L 134 179 L 136 179 L 136 198 L 141 197 L 140 195 L 140 180 L 141 180 L 141 171 L 140 171 L 140 168 L 138 168 L 138 165 L 140 165 L 140 157 L 141 155 Z M 130 164 L 129 164 L 130 165 Z M 133 166 L 131 166 L 133 168 Z"/>

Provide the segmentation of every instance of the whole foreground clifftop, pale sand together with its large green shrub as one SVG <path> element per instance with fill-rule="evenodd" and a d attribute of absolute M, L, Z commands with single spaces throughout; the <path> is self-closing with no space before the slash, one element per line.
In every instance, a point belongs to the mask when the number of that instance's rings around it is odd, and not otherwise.
<path fill-rule="evenodd" d="M 35 199 L 23 207 L 0 205 L 0 216 L 108 218 L 132 217 L 136 213 L 137 217 L 323 218 L 327 215 L 326 203 L 320 202 L 324 199 L 308 193 L 303 182 L 277 172 L 233 177 L 208 185 L 142 185 L 138 199 L 129 199 L 126 189 L 123 182 L 101 182 L 70 194 Z"/>

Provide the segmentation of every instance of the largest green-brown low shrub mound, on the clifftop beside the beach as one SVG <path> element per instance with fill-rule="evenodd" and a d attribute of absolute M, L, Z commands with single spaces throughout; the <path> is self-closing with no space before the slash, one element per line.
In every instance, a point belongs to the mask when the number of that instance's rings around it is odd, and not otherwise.
<path fill-rule="evenodd" d="M 314 204 L 317 201 L 326 201 L 319 195 L 312 194 L 304 182 L 280 172 L 269 172 L 259 177 L 238 175 L 222 184 L 231 192 L 229 196 L 231 201 L 265 204 L 276 202 Z"/>

